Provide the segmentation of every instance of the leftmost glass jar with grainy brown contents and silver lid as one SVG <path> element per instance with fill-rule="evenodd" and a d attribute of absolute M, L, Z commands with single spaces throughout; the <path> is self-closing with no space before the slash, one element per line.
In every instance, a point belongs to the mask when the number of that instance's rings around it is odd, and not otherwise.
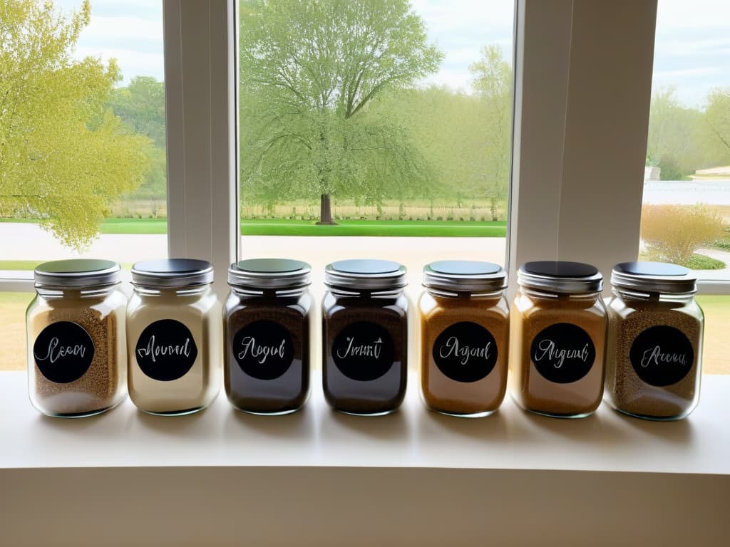
<path fill-rule="evenodd" d="M 48 416 L 80 417 L 126 395 L 120 267 L 112 260 L 56 260 L 34 272 L 26 311 L 28 388 Z"/>

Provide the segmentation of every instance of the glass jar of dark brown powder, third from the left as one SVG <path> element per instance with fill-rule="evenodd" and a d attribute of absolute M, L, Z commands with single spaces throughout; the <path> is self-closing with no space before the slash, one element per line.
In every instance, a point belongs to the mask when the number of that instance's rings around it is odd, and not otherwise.
<path fill-rule="evenodd" d="M 289 414 L 310 393 L 309 264 L 258 258 L 228 268 L 226 393 L 251 414 Z"/>

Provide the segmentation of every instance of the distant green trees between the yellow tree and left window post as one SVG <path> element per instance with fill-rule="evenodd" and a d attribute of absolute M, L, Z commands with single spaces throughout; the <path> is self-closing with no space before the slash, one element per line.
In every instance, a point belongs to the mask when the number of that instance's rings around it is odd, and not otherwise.
<path fill-rule="evenodd" d="M 117 88 L 107 102 L 125 128 L 150 138 L 145 146 L 147 170 L 135 198 L 164 199 L 167 189 L 165 153 L 165 85 L 149 76 L 131 79 L 126 88 Z"/>

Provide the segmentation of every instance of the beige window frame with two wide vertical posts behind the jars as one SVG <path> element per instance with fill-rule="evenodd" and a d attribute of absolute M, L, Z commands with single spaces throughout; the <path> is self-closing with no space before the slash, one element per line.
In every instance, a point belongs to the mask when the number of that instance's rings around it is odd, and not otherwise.
<path fill-rule="evenodd" d="M 539 257 L 604 274 L 636 259 L 656 5 L 516 0 L 511 290 Z M 234 0 L 163 0 L 163 20 L 169 255 L 210 260 L 223 295 L 240 250 Z M 621 161 L 584 175 L 596 158 Z M 0 291 L 31 290 L 30 276 L 0 279 Z M 699 292 L 730 295 L 730 281 Z"/>

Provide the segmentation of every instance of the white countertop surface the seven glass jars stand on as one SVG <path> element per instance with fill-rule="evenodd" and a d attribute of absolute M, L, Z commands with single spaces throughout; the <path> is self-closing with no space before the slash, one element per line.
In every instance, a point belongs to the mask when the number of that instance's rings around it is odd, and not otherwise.
<path fill-rule="evenodd" d="M 704 376 L 688 419 L 648 422 L 604 403 L 585 419 L 521 411 L 509 398 L 492 416 L 427 411 L 410 379 L 389 416 L 347 416 L 323 400 L 320 376 L 302 411 L 251 416 L 223 392 L 190 416 L 149 416 L 126 400 L 83 419 L 55 419 L 28 402 L 26 373 L 0 373 L 0 468 L 318 466 L 597 470 L 730 474 L 730 376 Z"/>

